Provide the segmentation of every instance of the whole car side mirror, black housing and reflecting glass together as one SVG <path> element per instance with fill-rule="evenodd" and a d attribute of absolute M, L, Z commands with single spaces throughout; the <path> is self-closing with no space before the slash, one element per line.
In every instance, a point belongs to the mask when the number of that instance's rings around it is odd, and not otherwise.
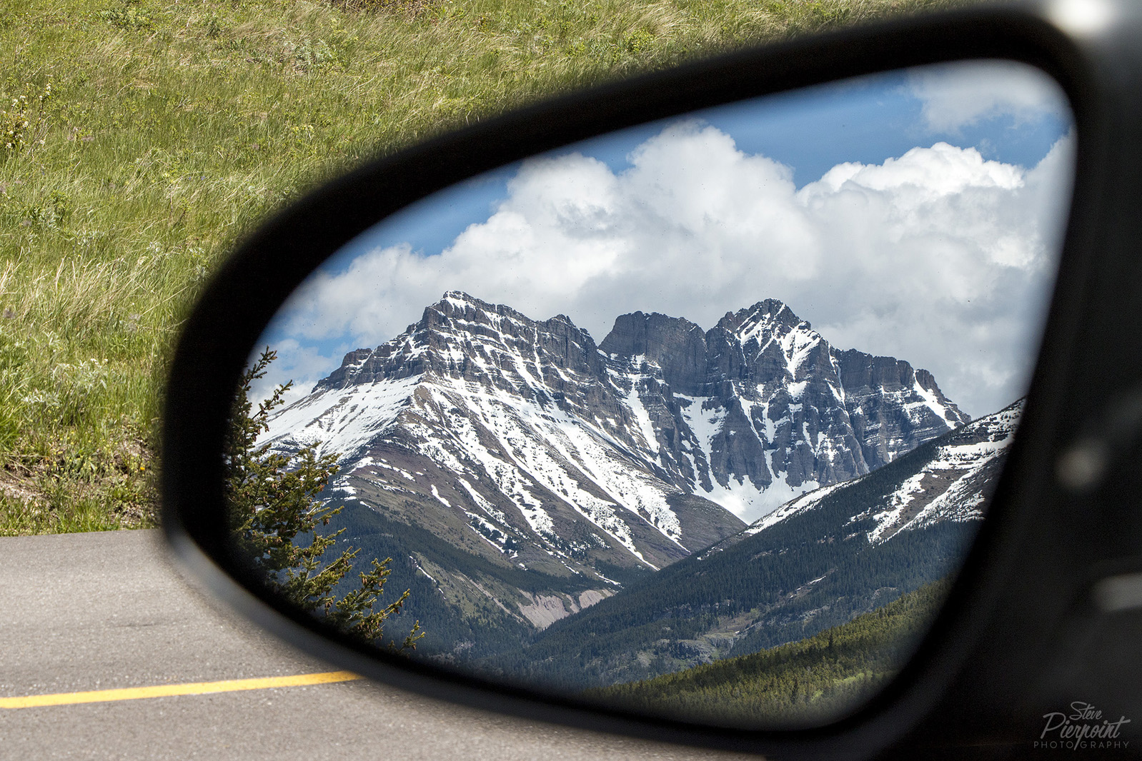
<path fill-rule="evenodd" d="M 1065 657 L 1134 605 L 1132 13 L 742 51 L 317 189 L 187 321 L 168 537 L 311 651 L 541 719 L 860 756 L 1127 712 Z"/>

